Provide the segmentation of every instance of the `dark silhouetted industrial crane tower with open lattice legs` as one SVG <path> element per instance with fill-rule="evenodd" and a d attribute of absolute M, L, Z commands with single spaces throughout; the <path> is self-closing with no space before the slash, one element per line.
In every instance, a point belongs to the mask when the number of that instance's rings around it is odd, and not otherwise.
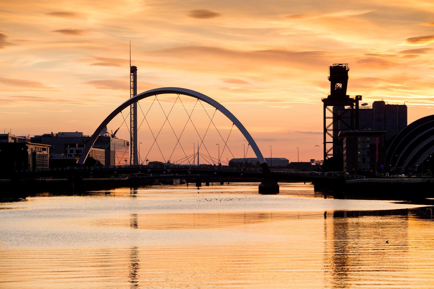
<path fill-rule="evenodd" d="M 329 66 L 330 95 L 322 98 L 324 160 L 343 156 L 343 139 L 338 136 L 339 131 L 358 130 L 358 102 L 362 96 L 352 98 L 347 95 L 348 71 L 347 63 Z"/>

